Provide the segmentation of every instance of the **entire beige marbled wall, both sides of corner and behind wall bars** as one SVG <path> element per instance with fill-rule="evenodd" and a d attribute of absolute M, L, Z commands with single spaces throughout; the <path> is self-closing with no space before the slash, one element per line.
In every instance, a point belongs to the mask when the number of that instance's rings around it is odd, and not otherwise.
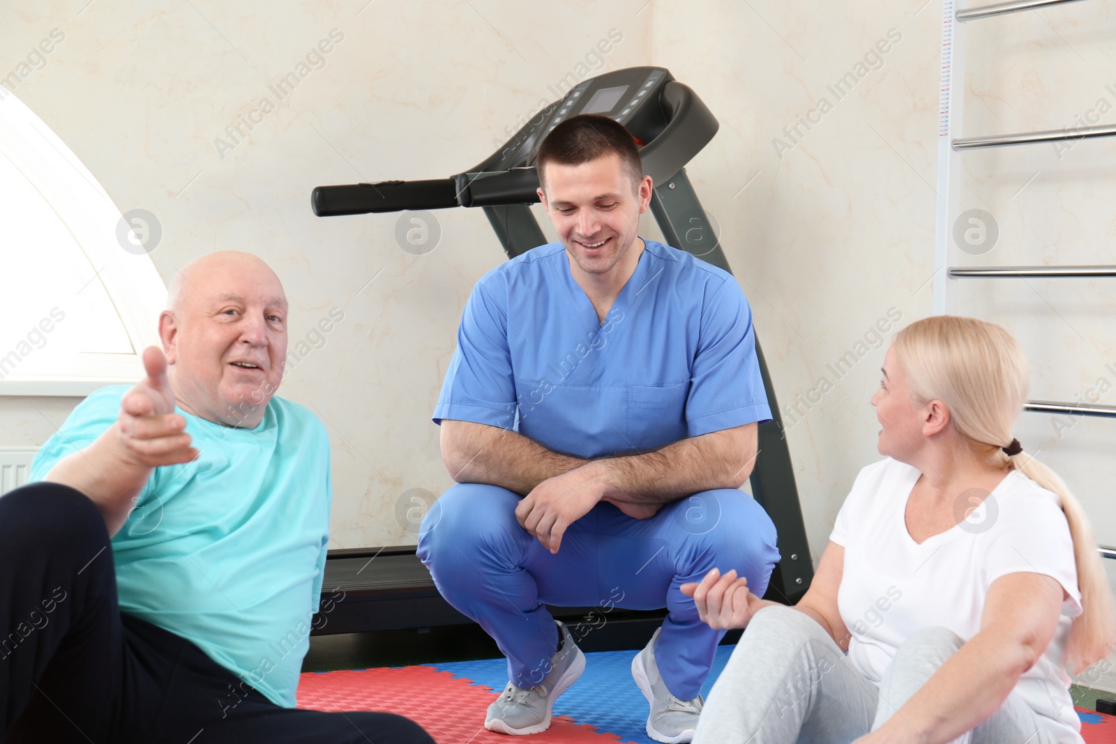
<path fill-rule="evenodd" d="M 413 255 L 396 243 L 396 215 L 319 220 L 310 190 L 456 173 L 569 73 L 670 68 L 721 122 L 689 171 L 751 299 L 780 405 L 795 412 L 788 437 L 817 559 L 856 472 L 877 456 L 867 402 L 884 338 L 932 310 L 940 1 L 25 4 L 0 10 L 0 74 L 65 33 L 17 93 L 122 211 L 158 216 L 152 258 L 164 278 L 239 248 L 285 280 L 292 345 L 344 312 L 282 389 L 327 422 L 335 547 L 414 542 L 397 506 L 411 489 L 449 485 L 429 414 L 471 283 L 503 257 L 480 212 L 439 212 L 440 244 Z M 598 60 L 589 52 L 610 29 L 623 41 Z M 1109 3 L 973 27 L 966 128 L 1058 128 L 1099 98 L 1116 104 L 1114 36 Z M 272 87 L 289 73 L 305 77 L 279 100 Z M 965 201 L 1001 230 L 981 262 L 1112 261 L 1114 145 L 1057 155 L 966 161 Z M 1116 385 L 1105 366 L 1116 363 L 1114 301 L 1101 280 L 973 283 L 959 309 L 1020 335 L 1036 397 L 1072 399 L 1101 376 Z M 830 369 L 848 352 L 850 369 Z M 0 444 L 41 442 L 68 405 L 0 402 Z M 1049 417 L 1020 424 L 1108 542 L 1113 426 L 1076 422 L 1058 438 Z"/>

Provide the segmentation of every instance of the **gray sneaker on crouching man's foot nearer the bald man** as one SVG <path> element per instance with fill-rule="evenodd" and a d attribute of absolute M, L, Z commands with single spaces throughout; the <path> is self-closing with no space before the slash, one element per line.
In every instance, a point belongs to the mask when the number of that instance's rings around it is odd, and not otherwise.
<path fill-rule="evenodd" d="M 550 673 L 542 682 L 522 689 L 510 682 L 489 706 L 484 727 L 498 734 L 538 734 L 550 727 L 550 709 L 558 696 L 585 671 L 585 654 L 574 642 L 565 624 L 558 626 L 560 650 L 550 658 Z"/>

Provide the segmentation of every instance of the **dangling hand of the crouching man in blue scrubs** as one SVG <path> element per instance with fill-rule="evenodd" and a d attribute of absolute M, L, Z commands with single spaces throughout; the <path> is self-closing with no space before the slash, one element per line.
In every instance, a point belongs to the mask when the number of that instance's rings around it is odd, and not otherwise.
<path fill-rule="evenodd" d="M 586 467 L 547 479 L 516 506 L 516 520 L 557 553 L 566 529 L 589 513 L 605 493 L 605 485 Z"/>

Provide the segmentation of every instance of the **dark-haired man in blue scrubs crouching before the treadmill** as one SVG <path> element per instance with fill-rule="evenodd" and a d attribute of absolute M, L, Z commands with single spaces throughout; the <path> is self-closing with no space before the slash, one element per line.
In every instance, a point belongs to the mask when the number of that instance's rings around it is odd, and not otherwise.
<path fill-rule="evenodd" d="M 474 288 L 434 421 L 458 485 L 419 554 L 508 657 L 487 728 L 545 731 L 585 659 L 559 606 L 666 607 L 633 661 L 647 733 L 689 742 L 723 631 L 679 587 L 734 568 L 758 595 L 775 526 L 738 491 L 770 418 L 735 280 L 636 232 L 647 211 L 632 136 L 577 116 L 542 143 L 539 199 L 560 242 Z"/>

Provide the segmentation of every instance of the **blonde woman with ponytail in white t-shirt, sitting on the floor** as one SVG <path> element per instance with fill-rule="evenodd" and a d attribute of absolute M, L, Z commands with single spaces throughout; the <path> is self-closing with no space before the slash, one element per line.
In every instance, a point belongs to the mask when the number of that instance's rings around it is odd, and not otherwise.
<path fill-rule="evenodd" d="M 1114 638 L 1093 531 L 1011 434 L 1028 366 L 1002 327 L 902 330 L 860 471 L 793 608 L 715 569 L 682 590 L 744 628 L 695 744 L 1079 744 L 1075 671 Z M 847 656 L 846 656 L 847 651 Z"/>

